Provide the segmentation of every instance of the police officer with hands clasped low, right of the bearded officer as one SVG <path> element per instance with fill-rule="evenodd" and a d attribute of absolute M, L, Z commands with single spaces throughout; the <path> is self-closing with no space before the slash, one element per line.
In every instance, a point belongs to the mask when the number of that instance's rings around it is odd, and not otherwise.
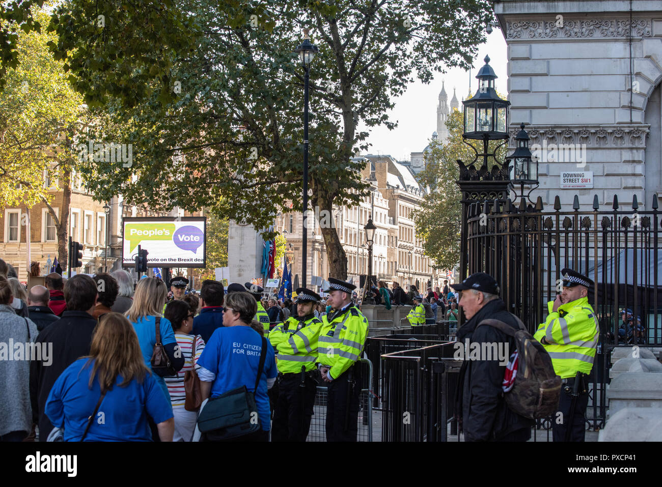
<path fill-rule="evenodd" d="M 318 363 L 328 386 L 326 441 L 356 441 L 361 377 L 355 364 L 361 358 L 368 320 L 352 303 L 355 285 L 328 280 L 332 312 L 322 316 Z"/>

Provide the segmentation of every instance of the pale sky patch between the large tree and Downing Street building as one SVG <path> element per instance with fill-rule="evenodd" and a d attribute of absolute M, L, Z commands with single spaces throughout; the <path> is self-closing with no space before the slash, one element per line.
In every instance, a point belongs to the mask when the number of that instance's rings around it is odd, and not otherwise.
<path fill-rule="evenodd" d="M 473 60 L 471 69 L 471 91 L 475 93 L 478 89 L 478 80 L 475 76 L 481 66 L 485 64 L 483 58 L 490 56 L 490 66 L 498 76 L 495 81 L 496 91 L 504 96 L 508 93 L 507 87 L 507 65 L 506 41 L 499 28 L 495 28 L 487 42 L 479 46 L 478 54 Z M 453 98 L 453 87 L 462 109 L 462 99 L 469 92 L 469 73 L 459 68 L 449 69 L 446 73 L 436 73 L 434 80 L 424 85 L 418 79 L 410 84 L 404 94 L 393 100 L 395 107 L 388 112 L 391 120 L 397 120 L 398 126 L 395 130 L 389 130 L 385 126 L 366 128 L 370 130 L 367 142 L 372 144 L 367 152 L 361 154 L 391 154 L 395 159 L 401 161 L 410 159 L 410 152 L 420 152 L 428 145 L 432 132 L 437 130 L 437 105 L 439 92 L 442 91 L 442 79 L 445 81 L 448 103 Z"/>

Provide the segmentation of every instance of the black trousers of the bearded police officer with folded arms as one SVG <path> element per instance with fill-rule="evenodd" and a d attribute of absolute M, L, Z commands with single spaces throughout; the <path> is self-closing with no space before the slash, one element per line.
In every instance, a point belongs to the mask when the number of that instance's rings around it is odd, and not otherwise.
<path fill-rule="evenodd" d="M 288 374 L 278 381 L 278 397 L 271 422 L 271 441 L 306 441 L 317 382 L 306 375 L 304 383 L 305 386 L 302 387 L 301 374 Z"/>

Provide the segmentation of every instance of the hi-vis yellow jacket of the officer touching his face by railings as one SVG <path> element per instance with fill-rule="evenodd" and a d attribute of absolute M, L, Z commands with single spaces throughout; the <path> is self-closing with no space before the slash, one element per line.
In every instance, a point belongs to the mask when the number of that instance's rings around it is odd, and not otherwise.
<path fill-rule="evenodd" d="M 591 373 L 600 326 L 588 298 L 561 304 L 556 312 L 552 312 L 553 305 L 553 301 L 547 303 L 549 316 L 534 338 L 540 341 L 545 337 L 551 343 L 543 346 L 561 378 L 574 377 L 577 372 Z"/>

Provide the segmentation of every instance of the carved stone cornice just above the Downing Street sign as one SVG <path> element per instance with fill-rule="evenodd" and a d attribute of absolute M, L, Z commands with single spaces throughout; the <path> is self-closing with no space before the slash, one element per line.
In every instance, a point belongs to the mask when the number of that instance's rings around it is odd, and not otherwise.
<path fill-rule="evenodd" d="M 528 125 L 524 128 L 529 134 L 529 147 L 533 144 L 586 144 L 587 148 L 639 148 L 646 147 L 649 125 L 595 125 L 595 126 L 540 126 Z M 519 127 L 511 127 L 508 146 L 515 146 L 515 136 Z"/>

